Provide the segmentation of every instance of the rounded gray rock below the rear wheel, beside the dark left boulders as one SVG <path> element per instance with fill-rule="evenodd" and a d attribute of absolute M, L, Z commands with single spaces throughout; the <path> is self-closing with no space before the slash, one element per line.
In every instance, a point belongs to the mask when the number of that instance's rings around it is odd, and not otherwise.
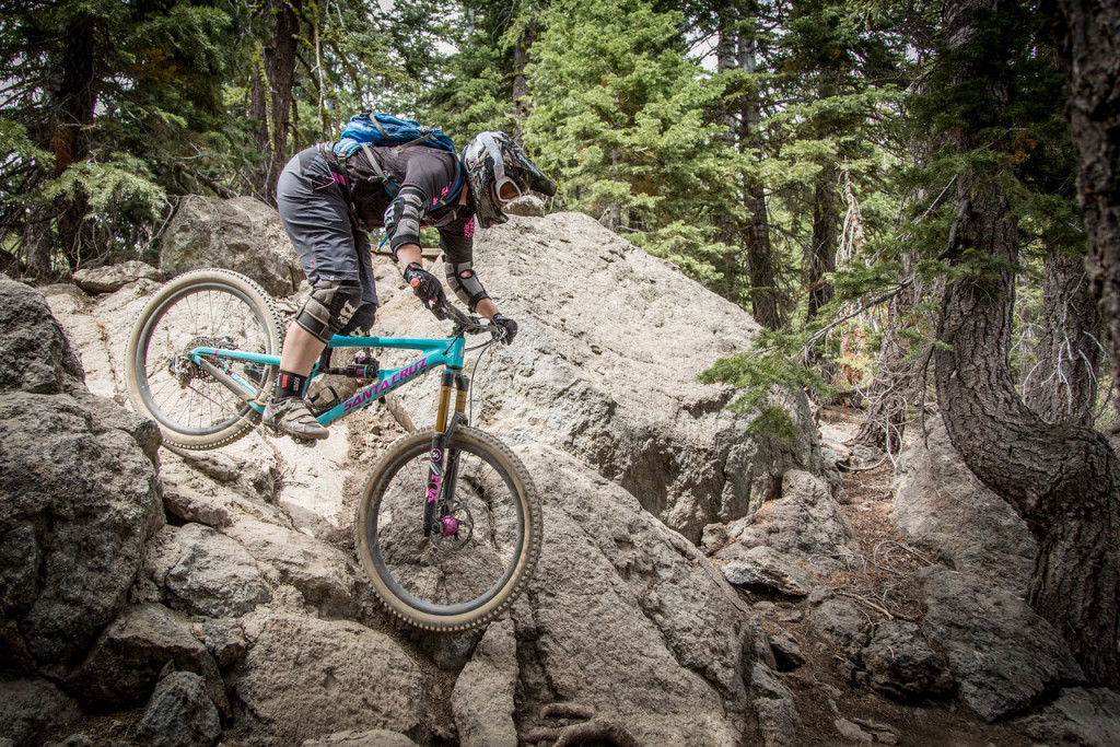
<path fill-rule="evenodd" d="M 244 615 L 272 597 L 244 545 L 202 524 L 164 527 L 148 548 L 144 573 L 164 589 L 168 607 L 192 615 Z"/>

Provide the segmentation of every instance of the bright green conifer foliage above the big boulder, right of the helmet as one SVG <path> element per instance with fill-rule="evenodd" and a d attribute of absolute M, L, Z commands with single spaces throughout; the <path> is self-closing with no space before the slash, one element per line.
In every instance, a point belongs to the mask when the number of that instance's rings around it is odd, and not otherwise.
<path fill-rule="evenodd" d="M 680 20 L 643 0 L 544 12 L 525 141 L 567 206 L 651 230 L 694 218 L 698 196 L 727 188 L 720 157 L 735 155 L 703 116 L 718 92 L 679 48 Z"/>

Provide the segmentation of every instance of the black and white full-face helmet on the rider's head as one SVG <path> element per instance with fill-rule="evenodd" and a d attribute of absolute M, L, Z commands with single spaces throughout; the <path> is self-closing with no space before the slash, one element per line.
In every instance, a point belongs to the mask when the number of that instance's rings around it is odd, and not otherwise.
<path fill-rule="evenodd" d="M 530 192 L 557 194 L 557 186 L 504 132 L 479 132 L 463 149 L 463 168 L 475 199 L 475 221 L 483 228 L 508 221 L 502 208 Z"/>

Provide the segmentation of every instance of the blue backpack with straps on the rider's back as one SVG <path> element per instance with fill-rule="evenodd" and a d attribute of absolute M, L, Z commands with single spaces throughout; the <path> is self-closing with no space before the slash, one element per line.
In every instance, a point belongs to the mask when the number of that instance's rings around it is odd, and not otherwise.
<path fill-rule="evenodd" d="M 364 150 L 370 166 L 377 172 L 377 177 L 385 186 L 385 192 L 392 197 L 396 196 L 400 187 L 381 168 L 381 164 L 370 150 L 370 146 L 396 146 L 398 150 L 412 146 L 424 146 L 458 155 L 451 138 L 439 128 L 429 129 L 416 120 L 405 120 L 384 112 L 355 114 L 343 128 L 342 134 L 338 136 L 338 142 L 334 146 L 335 156 L 349 158 L 358 149 Z M 458 159 L 456 159 L 456 164 L 455 186 L 432 209 L 439 209 L 458 199 L 459 190 L 463 189 L 464 174 L 463 165 L 458 162 Z"/>

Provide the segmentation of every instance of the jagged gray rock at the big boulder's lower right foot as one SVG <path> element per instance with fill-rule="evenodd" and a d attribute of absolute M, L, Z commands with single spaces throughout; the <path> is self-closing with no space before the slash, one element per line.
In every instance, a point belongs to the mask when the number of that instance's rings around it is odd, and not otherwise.
<path fill-rule="evenodd" d="M 828 483 L 790 470 L 780 498 L 753 516 L 706 527 L 703 548 L 731 583 L 805 596 L 841 570 L 833 555 L 853 554 L 859 543 Z"/>

